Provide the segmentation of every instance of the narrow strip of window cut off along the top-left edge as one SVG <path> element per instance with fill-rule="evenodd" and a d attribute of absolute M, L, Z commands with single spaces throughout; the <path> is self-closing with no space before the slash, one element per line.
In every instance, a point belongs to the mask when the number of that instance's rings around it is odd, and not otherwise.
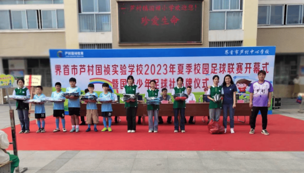
<path fill-rule="evenodd" d="M 0 0 L 1 4 L 63 4 L 63 0 Z"/>

